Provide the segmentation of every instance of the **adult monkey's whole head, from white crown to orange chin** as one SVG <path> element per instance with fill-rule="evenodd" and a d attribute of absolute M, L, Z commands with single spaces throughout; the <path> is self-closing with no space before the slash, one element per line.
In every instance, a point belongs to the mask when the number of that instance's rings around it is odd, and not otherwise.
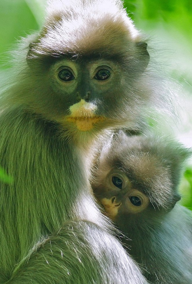
<path fill-rule="evenodd" d="M 17 75 L 22 95 L 12 102 L 58 123 L 70 137 L 140 127 L 151 97 L 142 85 L 149 53 L 121 1 L 50 6 L 41 32 L 26 39 Z"/>

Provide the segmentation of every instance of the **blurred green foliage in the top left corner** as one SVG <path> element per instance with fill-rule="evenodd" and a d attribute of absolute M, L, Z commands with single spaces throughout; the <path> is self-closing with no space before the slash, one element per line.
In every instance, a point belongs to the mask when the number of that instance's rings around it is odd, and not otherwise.
<path fill-rule="evenodd" d="M 0 64 L 4 52 L 12 49 L 20 37 L 39 29 L 44 3 L 44 0 L 0 0 Z"/>

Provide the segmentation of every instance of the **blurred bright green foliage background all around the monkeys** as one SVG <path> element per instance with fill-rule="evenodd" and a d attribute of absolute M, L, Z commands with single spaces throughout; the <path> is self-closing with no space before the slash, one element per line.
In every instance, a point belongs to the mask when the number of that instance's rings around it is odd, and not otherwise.
<path fill-rule="evenodd" d="M 44 5 L 45 0 L 0 0 L 0 70 L 5 68 L 6 50 L 12 49 L 21 36 L 39 28 Z M 173 132 L 178 140 L 192 147 L 192 1 L 125 0 L 125 7 L 137 28 L 154 39 L 156 50 L 162 50 L 159 54 L 167 72 L 182 85 L 182 122 Z M 169 127 L 163 130 L 172 135 Z M 11 181 L 1 169 L 0 176 Z M 180 189 L 182 203 L 192 209 L 192 160 L 186 165 Z"/>

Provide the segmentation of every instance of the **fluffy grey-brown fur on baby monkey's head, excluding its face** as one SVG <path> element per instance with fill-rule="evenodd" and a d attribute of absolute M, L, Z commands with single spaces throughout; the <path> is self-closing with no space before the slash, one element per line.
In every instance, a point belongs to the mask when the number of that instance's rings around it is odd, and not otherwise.
<path fill-rule="evenodd" d="M 111 169 L 119 169 L 154 206 L 171 210 L 180 199 L 177 189 L 182 165 L 190 153 L 189 149 L 170 139 L 130 137 L 120 132 L 101 152 L 94 186 L 98 183 L 98 190 L 105 187 Z"/>

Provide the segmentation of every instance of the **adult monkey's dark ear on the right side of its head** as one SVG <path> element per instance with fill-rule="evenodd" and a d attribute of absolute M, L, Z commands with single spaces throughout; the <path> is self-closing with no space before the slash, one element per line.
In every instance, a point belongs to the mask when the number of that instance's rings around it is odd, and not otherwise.
<path fill-rule="evenodd" d="M 149 52 L 147 51 L 147 43 L 145 41 L 138 41 L 135 43 L 139 59 L 140 71 L 144 72 L 149 64 Z"/>

